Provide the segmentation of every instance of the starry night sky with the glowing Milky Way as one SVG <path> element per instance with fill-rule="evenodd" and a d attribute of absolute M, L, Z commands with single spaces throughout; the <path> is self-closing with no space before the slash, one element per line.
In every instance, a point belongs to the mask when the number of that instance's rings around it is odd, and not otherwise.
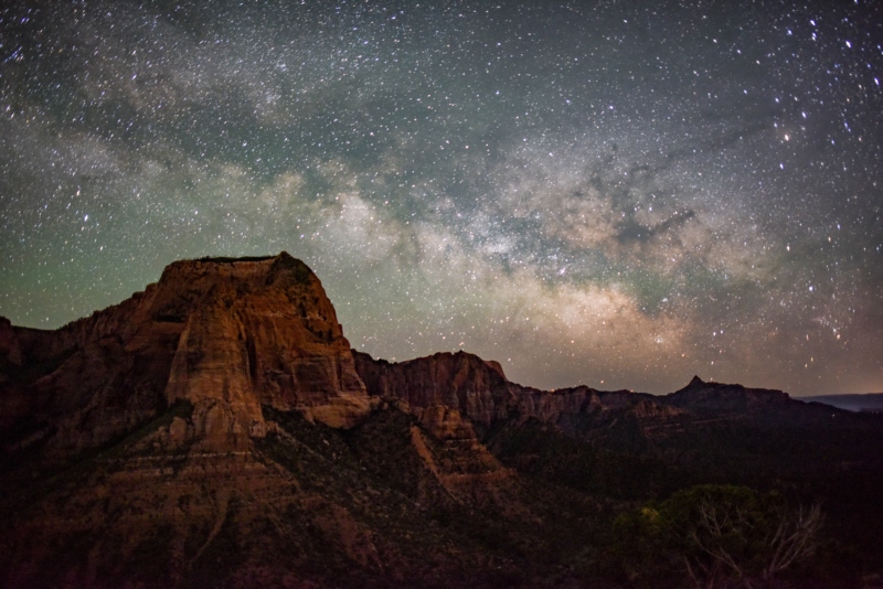
<path fill-rule="evenodd" d="M 287 250 L 375 357 L 883 390 L 883 3 L 134 4 L 2 10 L 14 324 Z"/>

